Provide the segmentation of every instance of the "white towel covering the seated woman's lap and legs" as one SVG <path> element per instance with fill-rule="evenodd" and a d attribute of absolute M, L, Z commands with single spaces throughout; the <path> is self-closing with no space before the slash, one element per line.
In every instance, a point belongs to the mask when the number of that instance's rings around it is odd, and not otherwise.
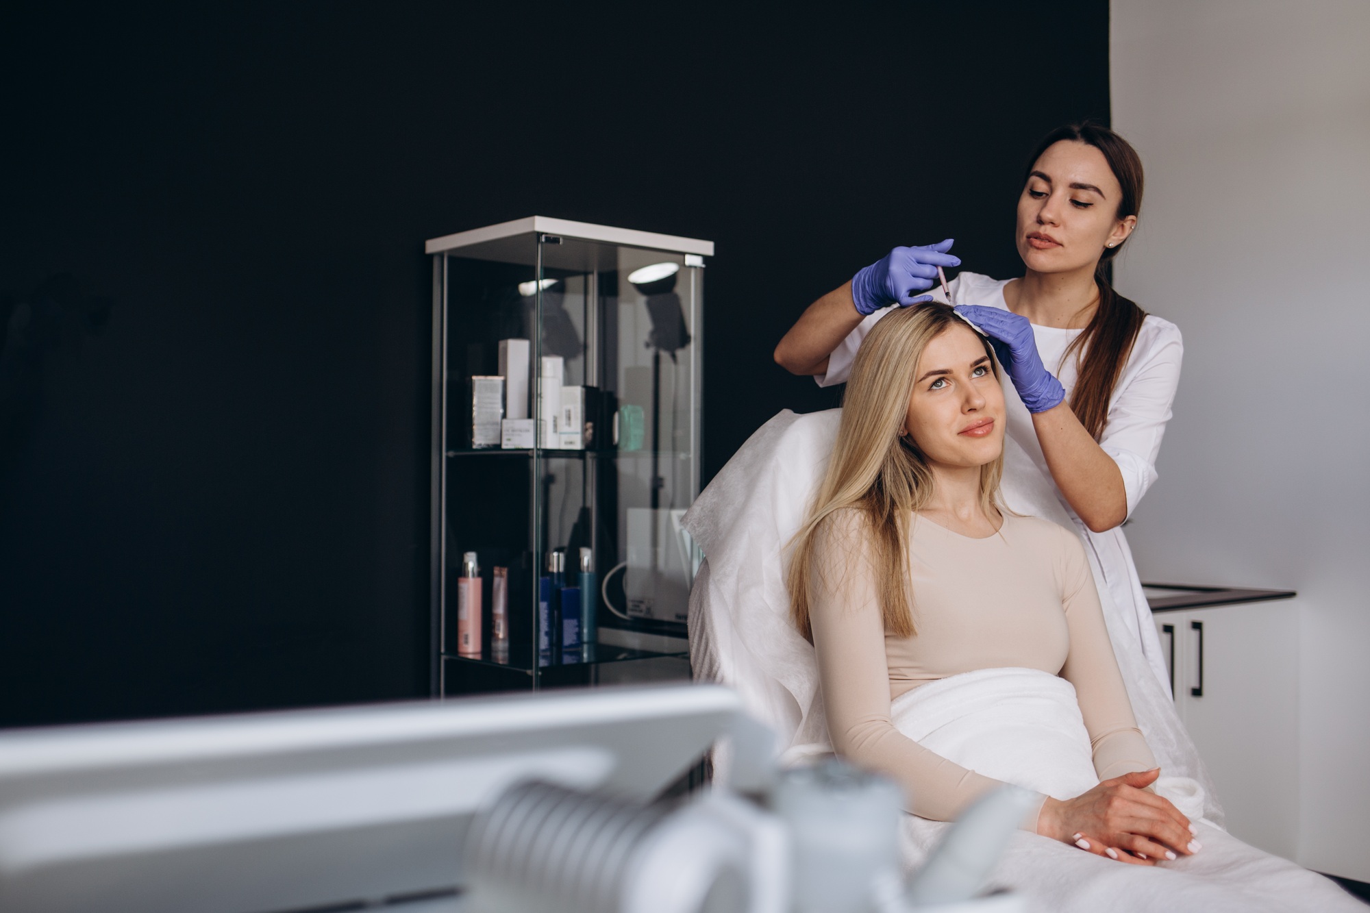
<path fill-rule="evenodd" d="M 1074 687 L 1037 669 L 980 669 L 932 681 L 891 705 L 895 725 L 944 758 L 1058 799 L 1097 786 Z M 1162 777 L 1166 796 L 1199 828 L 1203 849 L 1159 866 L 1133 866 L 1019 832 L 991 881 L 1026 895 L 1033 910 L 1347 910 L 1359 906 L 1328 879 L 1262 853 L 1201 820 L 1203 788 Z M 922 865 L 947 831 L 904 816 L 904 865 Z"/>

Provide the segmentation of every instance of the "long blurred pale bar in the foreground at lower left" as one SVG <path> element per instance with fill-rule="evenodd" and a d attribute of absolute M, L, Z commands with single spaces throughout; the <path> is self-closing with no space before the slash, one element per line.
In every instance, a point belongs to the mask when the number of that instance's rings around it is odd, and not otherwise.
<path fill-rule="evenodd" d="M 501 791 L 645 802 L 737 718 L 675 685 L 0 733 L 0 909 L 462 909 Z"/>

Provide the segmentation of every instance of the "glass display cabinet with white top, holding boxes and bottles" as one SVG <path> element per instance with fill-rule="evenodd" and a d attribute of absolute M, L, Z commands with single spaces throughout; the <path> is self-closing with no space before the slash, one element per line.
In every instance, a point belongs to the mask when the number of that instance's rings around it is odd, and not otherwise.
<path fill-rule="evenodd" d="M 433 692 L 688 673 L 712 243 L 530 217 L 426 249 Z"/>

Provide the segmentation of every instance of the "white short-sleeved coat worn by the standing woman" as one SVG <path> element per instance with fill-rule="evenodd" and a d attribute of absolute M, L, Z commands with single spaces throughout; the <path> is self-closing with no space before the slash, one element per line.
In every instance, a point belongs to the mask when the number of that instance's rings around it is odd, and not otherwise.
<path fill-rule="evenodd" d="M 962 273 L 951 282 L 952 302 L 956 304 L 981 304 L 985 307 L 1000 307 L 1008 310 L 1004 302 L 1004 285 L 1008 280 L 993 280 L 975 273 Z M 937 292 L 940 299 L 940 289 Z M 882 308 L 867 317 L 841 341 L 827 359 L 827 373 L 815 377 L 819 387 L 832 387 L 847 381 L 851 374 L 852 361 L 860 341 L 885 314 L 893 308 Z M 1069 363 L 1062 363 L 1066 347 L 1081 333 L 1081 330 L 1056 329 L 1052 326 L 1037 326 L 1033 324 L 1033 336 L 1037 340 L 1037 351 L 1041 354 L 1043 365 L 1056 374 L 1066 396 L 1070 398 L 1075 387 L 1077 365 L 1071 358 Z M 1155 315 L 1147 315 L 1137 334 L 1137 341 L 1128 356 L 1122 374 L 1114 385 L 1112 398 L 1108 403 L 1108 425 L 1104 428 L 1099 446 L 1106 454 L 1112 456 L 1122 473 L 1123 489 L 1128 495 L 1128 515 L 1137 507 L 1141 496 L 1147 494 L 1151 484 L 1156 481 L 1156 455 L 1160 452 L 1160 439 L 1166 432 L 1166 422 L 1170 421 L 1170 406 L 1175 399 L 1175 387 L 1180 384 L 1180 362 L 1184 355 L 1184 343 L 1180 339 L 1180 328 L 1170 321 Z M 1008 410 L 1007 433 L 1028 454 L 1033 467 L 1045 478 L 1056 494 L 1056 499 L 1075 524 L 1075 529 L 1091 552 L 1091 566 L 1095 572 L 1095 584 L 1101 592 L 1112 596 L 1125 616 L 1136 618 L 1137 637 L 1141 642 L 1143 654 L 1160 680 L 1166 694 L 1170 694 L 1170 677 L 1166 673 L 1166 661 L 1160 653 L 1160 639 L 1156 636 L 1155 624 L 1151 620 L 1151 607 L 1141 591 L 1141 580 L 1137 568 L 1132 561 L 1132 550 L 1128 547 L 1128 537 L 1122 528 L 1115 526 L 1107 532 L 1091 532 L 1088 526 L 1075 515 L 1075 511 L 1066 503 L 1060 489 L 1056 488 L 1047 469 L 1047 459 L 1037 441 L 1037 432 L 1032 424 L 1032 414 L 1012 384 L 1004 384 L 1004 399 Z M 1004 472 L 1032 472 L 1022 463 L 1006 462 Z M 1012 504 L 1010 504 L 1012 507 Z"/>

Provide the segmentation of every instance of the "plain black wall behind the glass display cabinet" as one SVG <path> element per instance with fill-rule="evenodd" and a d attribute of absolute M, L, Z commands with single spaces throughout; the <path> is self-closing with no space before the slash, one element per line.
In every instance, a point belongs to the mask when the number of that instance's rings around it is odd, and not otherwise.
<path fill-rule="evenodd" d="M 711 239 L 706 476 L 893 244 L 1018 267 L 1107 3 L 5 4 L 0 724 L 425 692 L 427 237 Z"/>

